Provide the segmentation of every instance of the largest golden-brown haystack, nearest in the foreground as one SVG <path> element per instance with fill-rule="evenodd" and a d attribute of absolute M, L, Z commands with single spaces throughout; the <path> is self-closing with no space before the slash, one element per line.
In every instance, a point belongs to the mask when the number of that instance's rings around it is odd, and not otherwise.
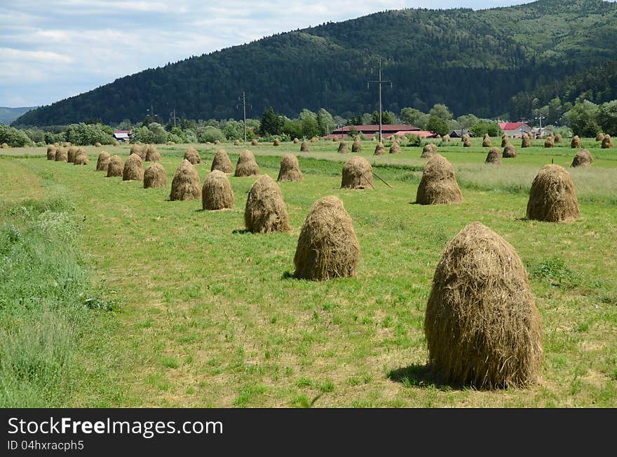
<path fill-rule="evenodd" d="M 424 333 L 430 370 L 446 382 L 482 389 L 538 382 L 540 314 L 513 246 L 480 223 L 463 228 L 435 269 Z"/>

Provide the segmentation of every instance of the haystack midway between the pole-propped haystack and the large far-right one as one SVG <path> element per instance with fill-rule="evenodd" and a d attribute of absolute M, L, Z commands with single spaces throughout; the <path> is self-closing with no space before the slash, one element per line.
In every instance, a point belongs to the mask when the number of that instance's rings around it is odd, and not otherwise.
<path fill-rule="evenodd" d="M 416 203 L 453 204 L 462 201 L 463 195 L 456 182 L 454 167 L 442 155 L 434 154 L 424 165 L 416 192 Z"/>

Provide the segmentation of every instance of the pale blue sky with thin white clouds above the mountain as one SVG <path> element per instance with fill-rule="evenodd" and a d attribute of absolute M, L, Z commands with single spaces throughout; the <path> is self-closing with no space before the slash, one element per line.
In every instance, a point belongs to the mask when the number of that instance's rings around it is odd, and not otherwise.
<path fill-rule="evenodd" d="M 324 22 L 515 0 L 0 0 L 0 106 L 40 106 L 148 68 Z"/>

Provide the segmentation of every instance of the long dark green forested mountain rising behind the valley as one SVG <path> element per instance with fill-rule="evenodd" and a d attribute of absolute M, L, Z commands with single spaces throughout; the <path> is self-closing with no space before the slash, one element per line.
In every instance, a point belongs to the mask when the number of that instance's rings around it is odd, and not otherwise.
<path fill-rule="evenodd" d="M 85 94 L 30 111 L 15 125 L 57 125 L 100 118 L 142 120 L 151 104 L 193 119 L 239 118 L 244 90 L 248 116 L 268 106 L 296 115 L 377 107 L 371 67 L 381 57 L 384 109 L 428 111 L 444 103 L 454 115 L 529 115 L 531 101 L 588 91 L 616 97 L 603 64 L 617 59 L 617 4 L 601 0 L 539 0 L 490 10 L 405 9 L 374 13 L 262 38 L 119 78 Z M 606 96 L 606 97 L 605 97 Z M 548 97 L 548 99 L 545 99 Z M 604 100 L 596 100 L 604 101 Z"/>

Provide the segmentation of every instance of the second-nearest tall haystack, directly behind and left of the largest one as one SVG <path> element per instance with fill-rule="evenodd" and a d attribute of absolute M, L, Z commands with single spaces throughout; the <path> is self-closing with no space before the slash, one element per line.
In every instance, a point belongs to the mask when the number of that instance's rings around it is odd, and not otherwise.
<path fill-rule="evenodd" d="M 343 202 L 318 199 L 300 230 L 294 276 L 312 281 L 355 276 L 359 260 L 360 244 Z"/>

